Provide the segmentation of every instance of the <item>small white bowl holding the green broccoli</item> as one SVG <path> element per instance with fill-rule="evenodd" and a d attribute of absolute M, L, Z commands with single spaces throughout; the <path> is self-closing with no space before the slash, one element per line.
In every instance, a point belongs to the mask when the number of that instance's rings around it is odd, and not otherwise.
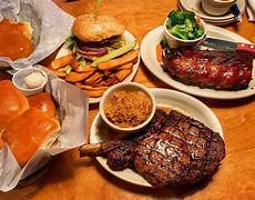
<path fill-rule="evenodd" d="M 183 39 L 180 39 L 180 38 L 170 33 L 170 31 L 166 28 L 166 21 L 169 20 L 169 18 L 167 18 L 164 21 L 163 27 L 164 27 L 164 36 L 165 36 L 165 39 L 166 39 L 169 46 L 171 48 L 180 48 L 180 47 L 196 46 L 200 42 L 202 42 L 204 37 L 206 36 L 206 26 L 205 26 L 204 20 L 202 20 L 201 18 L 198 18 L 198 19 L 200 19 L 198 26 L 204 30 L 203 36 L 201 36 L 200 38 L 194 39 L 194 40 L 183 40 Z"/>

